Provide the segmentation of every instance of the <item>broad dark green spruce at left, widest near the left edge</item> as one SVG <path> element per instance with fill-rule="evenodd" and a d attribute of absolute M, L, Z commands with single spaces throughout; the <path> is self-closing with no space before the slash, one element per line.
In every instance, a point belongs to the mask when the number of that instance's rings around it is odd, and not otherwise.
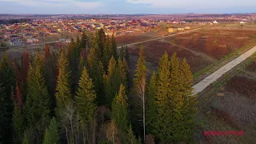
<path fill-rule="evenodd" d="M 37 60 L 40 58 L 34 59 L 34 61 Z M 42 142 L 42 131 L 48 125 L 51 104 L 46 81 L 42 75 L 42 66 L 38 63 L 34 62 L 34 67 L 30 66 L 28 71 L 28 94 L 24 111 L 28 127 L 36 131 L 33 142 Z"/>

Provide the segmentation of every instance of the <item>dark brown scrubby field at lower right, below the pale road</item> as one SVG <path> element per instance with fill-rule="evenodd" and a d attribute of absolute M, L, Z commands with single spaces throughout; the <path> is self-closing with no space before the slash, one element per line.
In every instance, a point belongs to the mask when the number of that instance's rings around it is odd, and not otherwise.
<path fill-rule="evenodd" d="M 256 137 L 255 105 L 256 80 L 246 78 L 245 74 L 238 74 L 213 95 L 207 105 L 210 107 L 210 113 L 204 116 L 208 118 L 206 125 L 200 126 L 203 130 L 244 131 L 244 135 L 239 137 L 210 137 L 208 140 L 213 143 L 252 143 Z"/>

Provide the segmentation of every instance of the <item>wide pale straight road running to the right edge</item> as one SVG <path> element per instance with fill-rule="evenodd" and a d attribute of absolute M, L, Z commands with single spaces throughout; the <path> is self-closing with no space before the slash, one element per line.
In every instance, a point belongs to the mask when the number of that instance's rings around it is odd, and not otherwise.
<path fill-rule="evenodd" d="M 233 69 L 234 66 L 237 66 L 239 63 L 246 60 L 246 58 L 249 58 L 255 52 L 256 52 L 256 46 L 246 51 L 244 54 L 241 54 L 238 58 L 235 58 L 233 61 L 227 63 L 225 66 L 222 66 L 220 69 L 216 70 L 213 74 L 210 74 L 201 82 L 198 82 L 196 85 L 193 86 L 194 88 L 193 94 L 198 94 L 199 92 L 204 90 L 211 83 L 217 81 L 218 78 L 221 78 L 223 74 L 226 74 L 226 72 Z"/>

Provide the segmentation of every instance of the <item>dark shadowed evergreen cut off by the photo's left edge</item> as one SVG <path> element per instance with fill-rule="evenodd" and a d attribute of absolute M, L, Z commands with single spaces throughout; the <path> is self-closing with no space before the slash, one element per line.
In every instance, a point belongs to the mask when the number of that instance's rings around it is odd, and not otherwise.
<path fill-rule="evenodd" d="M 0 110 L 0 125 L 2 126 L 2 130 L 0 130 L 0 142 L 3 143 L 10 143 L 12 139 L 11 121 L 13 115 L 13 102 L 10 94 L 12 87 L 15 87 L 14 79 L 14 66 L 7 54 L 4 53 L 0 62 L 0 83 L 2 85 L 0 102 L 2 107 Z"/>

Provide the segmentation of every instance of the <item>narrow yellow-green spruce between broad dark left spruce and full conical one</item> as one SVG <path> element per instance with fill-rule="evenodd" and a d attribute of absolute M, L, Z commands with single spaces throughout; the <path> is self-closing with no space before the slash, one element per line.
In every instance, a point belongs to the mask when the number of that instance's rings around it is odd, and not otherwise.
<path fill-rule="evenodd" d="M 62 51 L 58 58 L 58 78 L 55 97 L 58 109 L 60 110 L 71 102 L 70 70 L 65 51 Z"/>

